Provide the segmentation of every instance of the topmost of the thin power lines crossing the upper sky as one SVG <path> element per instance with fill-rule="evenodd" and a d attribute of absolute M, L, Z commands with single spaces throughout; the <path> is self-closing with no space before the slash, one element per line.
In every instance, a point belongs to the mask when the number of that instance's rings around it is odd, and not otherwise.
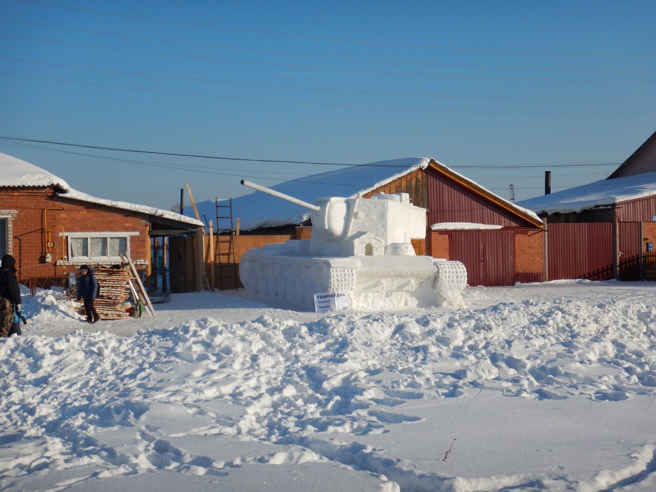
<path fill-rule="evenodd" d="M 180 26 L 194 26 L 201 28 L 210 28 L 218 30 L 228 30 L 228 31 L 238 31 L 238 32 L 247 32 L 247 33 L 257 33 L 257 34 L 267 34 L 267 35 L 276 35 L 276 36 L 285 36 L 285 37 L 298 37 L 305 39 L 319 39 L 323 41 L 340 41 L 344 43 L 360 43 L 366 45 L 381 45 L 381 46 L 398 46 L 398 47 L 411 47 L 411 48 L 427 48 L 427 49 L 438 49 L 438 50 L 450 50 L 450 51 L 478 51 L 478 52 L 499 52 L 499 53 L 513 53 L 513 54 L 540 54 L 540 55 L 564 55 L 564 56 L 656 56 L 656 53 L 604 53 L 604 52 L 549 52 L 549 51 L 527 51 L 527 50 L 503 50 L 503 49 L 488 49 L 488 48 L 471 48 L 471 47 L 451 47 L 451 46 L 440 46 L 440 45 L 422 45 L 422 44 L 413 44 L 413 43 L 392 43 L 390 41 L 369 41 L 364 39 L 348 39 L 348 38 L 339 38 L 339 37 L 326 37 L 318 35 L 308 35 L 308 34 L 297 34 L 297 33 L 285 33 L 277 31 L 265 31 L 265 30 L 254 30 L 254 29 L 244 29 L 244 28 L 232 28 L 228 26 L 216 26 L 212 24 L 201 24 L 199 22 L 185 22 L 182 20 L 171 20 L 163 18 L 154 18 L 154 17 L 145 17 L 145 16 L 136 16 L 131 14 L 121 14 L 118 12 L 107 12 L 106 10 L 94 10 L 94 9 L 81 9 L 79 7 L 70 7 L 68 5 L 57 5 L 54 3 L 47 3 L 35 0 L 15 0 L 22 1 L 23 3 L 31 3 L 33 5 L 44 5 L 46 7 L 54 7 L 56 9 L 68 9 L 68 10 L 77 10 L 79 12 L 90 12 L 94 14 L 102 14 L 108 16 L 116 16 L 123 18 L 131 18 L 136 20 L 148 20 L 150 22 L 163 22 L 167 24 L 178 24 Z"/>

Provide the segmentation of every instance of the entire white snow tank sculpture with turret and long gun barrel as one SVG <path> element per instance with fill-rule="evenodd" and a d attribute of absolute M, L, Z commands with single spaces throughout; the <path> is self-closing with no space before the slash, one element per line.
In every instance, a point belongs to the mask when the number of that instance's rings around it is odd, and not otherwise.
<path fill-rule="evenodd" d="M 241 184 L 312 211 L 312 238 L 249 249 L 239 278 L 249 293 L 314 308 L 318 293 L 348 293 L 350 309 L 462 306 L 467 272 L 461 262 L 416 256 L 411 239 L 426 234 L 426 211 L 409 195 L 329 197 L 315 204 Z"/>

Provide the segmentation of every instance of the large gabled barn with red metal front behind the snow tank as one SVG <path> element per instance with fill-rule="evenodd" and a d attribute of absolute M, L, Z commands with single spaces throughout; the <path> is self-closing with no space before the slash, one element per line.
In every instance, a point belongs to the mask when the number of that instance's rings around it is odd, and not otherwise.
<path fill-rule="evenodd" d="M 461 261 L 469 285 L 513 285 L 544 278 L 542 220 L 435 159 L 415 157 L 344 167 L 271 188 L 308 203 L 319 197 L 407 193 L 414 205 L 426 209 L 426 236 L 413 241 L 417 254 Z M 198 203 L 197 210 L 206 219 L 216 215 L 220 230 L 216 203 Z M 188 207 L 185 214 L 191 216 L 194 211 Z M 233 224 L 239 221 L 239 232 L 232 236 L 230 246 L 236 264 L 245 249 L 311 234 L 308 209 L 260 191 L 233 199 L 232 216 Z M 218 242 L 207 249 L 217 255 L 224 251 Z M 220 256 L 215 259 L 221 262 Z M 220 269 L 207 266 L 217 279 L 222 277 Z"/>

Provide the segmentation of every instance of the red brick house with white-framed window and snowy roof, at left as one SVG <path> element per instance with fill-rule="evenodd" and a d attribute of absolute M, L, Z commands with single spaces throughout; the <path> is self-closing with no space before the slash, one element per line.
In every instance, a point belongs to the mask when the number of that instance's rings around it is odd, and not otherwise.
<path fill-rule="evenodd" d="M 16 258 L 22 283 L 50 287 L 81 264 L 108 265 L 127 252 L 144 277 L 152 273 L 152 237 L 178 237 L 182 251 L 176 276 L 191 278 L 184 290 L 198 290 L 204 272 L 190 261 L 200 254 L 203 225 L 173 212 L 100 199 L 30 163 L 0 154 L 0 256 Z M 184 254 L 178 254 L 184 253 Z M 182 260 L 184 258 L 184 260 Z M 173 260 L 172 260 L 173 262 Z M 171 264 L 174 269 L 174 265 Z M 203 282 L 200 282 L 201 289 Z M 189 287 L 189 288 L 188 288 Z"/>

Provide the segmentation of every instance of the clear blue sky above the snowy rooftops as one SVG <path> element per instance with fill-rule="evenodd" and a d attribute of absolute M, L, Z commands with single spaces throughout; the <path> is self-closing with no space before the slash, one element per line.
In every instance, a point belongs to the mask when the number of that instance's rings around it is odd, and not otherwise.
<path fill-rule="evenodd" d="M 102 198 L 169 209 L 185 182 L 203 201 L 433 157 L 520 201 L 656 131 L 653 1 L 0 5 L 0 152 Z"/>

